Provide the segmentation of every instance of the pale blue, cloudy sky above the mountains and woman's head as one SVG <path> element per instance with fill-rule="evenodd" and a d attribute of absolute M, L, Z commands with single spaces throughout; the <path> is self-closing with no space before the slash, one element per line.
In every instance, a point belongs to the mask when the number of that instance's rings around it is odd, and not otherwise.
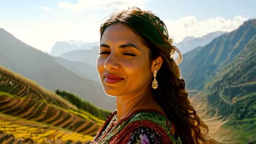
<path fill-rule="evenodd" d="M 256 18 L 255 0 L 0 0 L 0 5 L 0 28 L 43 52 L 56 41 L 99 41 L 102 21 L 132 6 L 159 16 L 174 43 L 231 32 Z"/>

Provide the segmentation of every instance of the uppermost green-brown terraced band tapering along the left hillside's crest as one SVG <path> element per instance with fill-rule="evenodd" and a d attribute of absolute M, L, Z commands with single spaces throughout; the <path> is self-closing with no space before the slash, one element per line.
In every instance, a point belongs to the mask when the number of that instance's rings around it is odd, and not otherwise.
<path fill-rule="evenodd" d="M 63 107 L 65 109 L 76 107 L 68 101 L 47 91 L 37 83 L 26 79 L 25 77 L 15 74 L 12 71 L 1 67 L 0 65 L 0 92 L 6 92 L 11 95 L 17 95 L 21 98 L 33 98 L 46 101 L 46 103 Z"/>

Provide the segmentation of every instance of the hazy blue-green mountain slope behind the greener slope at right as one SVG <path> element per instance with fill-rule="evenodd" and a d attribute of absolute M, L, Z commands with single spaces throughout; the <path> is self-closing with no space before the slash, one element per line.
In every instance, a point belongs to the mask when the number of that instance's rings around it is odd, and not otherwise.
<path fill-rule="evenodd" d="M 255 31 L 255 19 L 249 20 L 235 31 L 220 35 L 211 43 L 185 53 L 179 68 L 187 88 L 202 89 L 218 67 L 233 61 L 249 41 L 255 39 Z"/>

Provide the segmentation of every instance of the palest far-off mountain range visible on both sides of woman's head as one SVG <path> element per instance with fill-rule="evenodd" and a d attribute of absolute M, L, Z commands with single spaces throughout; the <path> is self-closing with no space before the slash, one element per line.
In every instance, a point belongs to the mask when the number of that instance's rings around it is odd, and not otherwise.
<path fill-rule="evenodd" d="M 182 53 L 195 49 L 210 43 L 211 40 L 226 32 L 213 32 L 203 35 L 201 38 L 187 37 L 181 43 L 174 44 Z M 57 41 L 53 46 L 50 55 L 56 56 L 56 61 L 63 67 L 73 71 L 74 73 L 86 77 L 90 80 L 100 82 L 96 75 L 96 59 L 98 53 L 98 43 L 82 43 L 75 41 Z M 61 54 L 61 55 L 60 55 Z M 68 60 L 68 61 L 67 61 Z M 89 65 L 88 65 L 89 64 Z"/>

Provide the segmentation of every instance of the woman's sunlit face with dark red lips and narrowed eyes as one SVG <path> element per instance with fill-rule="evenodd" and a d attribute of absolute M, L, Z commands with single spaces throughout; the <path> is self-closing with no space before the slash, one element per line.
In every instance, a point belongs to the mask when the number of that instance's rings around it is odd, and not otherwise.
<path fill-rule="evenodd" d="M 149 49 L 127 26 L 114 23 L 104 31 L 97 70 L 108 95 L 133 94 L 152 80 Z"/>

